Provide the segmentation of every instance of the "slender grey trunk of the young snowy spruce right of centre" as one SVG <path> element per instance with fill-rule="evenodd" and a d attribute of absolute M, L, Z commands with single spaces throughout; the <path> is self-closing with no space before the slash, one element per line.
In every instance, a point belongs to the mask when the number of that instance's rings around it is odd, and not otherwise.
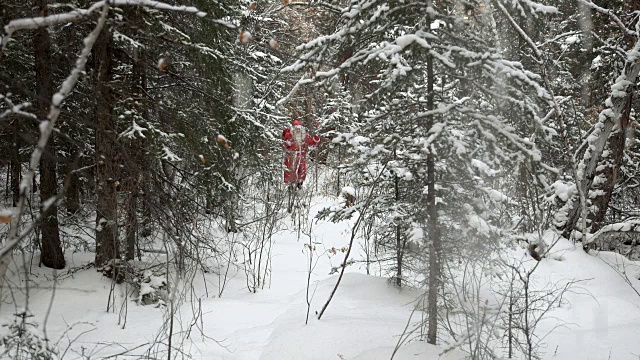
<path fill-rule="evenodd" d="M 427 106 L 428 110 L 434 109 L 433 84 L 435 76 L 433 74 L 433 57 L 427 55 Z M 433 126 L 433 118 L 427 120 L 427 130 Z M 427 155 L 427 214 L 428 214 L 428 234 L 431 243 L 429 252 L 429 293 L 428 293 L 428 320 L 427 342 L 435 344 L 438 332 L 438 288 L 440 282 L 440 230 L 438 229 L 438 211 L 436 208 L 436 166 L 435 155 L 429 149 Z"/>

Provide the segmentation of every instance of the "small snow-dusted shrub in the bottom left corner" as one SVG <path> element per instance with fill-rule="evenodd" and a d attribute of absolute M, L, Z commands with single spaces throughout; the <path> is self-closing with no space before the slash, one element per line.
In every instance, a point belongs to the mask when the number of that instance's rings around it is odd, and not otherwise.
<path fill-rule="evenodd" d="M 31 322 L 33 314 L 21 311 L 15 314 L 13 323 L 3 324 L 8 332 L 2 336 L 0 354 L 8 359 L 53 360 L 59 359 L 58 350 Z"/>

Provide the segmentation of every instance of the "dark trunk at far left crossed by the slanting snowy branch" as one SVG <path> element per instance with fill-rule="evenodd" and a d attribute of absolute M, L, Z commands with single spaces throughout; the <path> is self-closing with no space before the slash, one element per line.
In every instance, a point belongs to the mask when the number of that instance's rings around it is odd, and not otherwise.
<path fill-rule="evenodd" d="M 36 0 L 38 14 L 45 16 L 47 0 Z M 35 38 L 36 64 L 36 113 L 38 119 L 44 121 L 49 113 L 53 96 L 53 79 L 49 67 L 51 58 L 51 38 L 47 28 L 36 30 Z M 56 178 L 56 145 L 55 133 L 51 133 L 47 146 L 40 160 L 40 211 L 43 214 L 40 230 L 42 231 L 42 264 L 48 268 L 62 269 L 65 266 L 64 254 L 60 246 L 60 230 L 58 229 L 58 207 L 48 204 L 57 196 Z M 35 180 L 35 178 L 34 178 Z M 34 184 L 35 185 L 35 184 Z M 34 186 L 34 191 L 35 186 Z M 52 200 L 51 200 L 52 201 Z M 45 208 L 48 206 L 48 209 Z"/>

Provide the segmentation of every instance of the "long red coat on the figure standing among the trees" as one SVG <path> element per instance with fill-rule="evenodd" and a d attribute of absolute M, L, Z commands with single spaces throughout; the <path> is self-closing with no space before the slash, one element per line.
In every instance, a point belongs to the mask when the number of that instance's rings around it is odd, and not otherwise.
<path fill-rule="evenodd" d="M 287 167 L 284 171 L 285 184 L 304 181 L 307 177 L 307 147 L 320 143 L 318 135 L 311 137 L 306 132 L 303 134 L 304 139 L 299 139 L 301 141 L 296 142 L 291 130 L 284 129 L 282 132 L 286 153 L 284 165 Z"/>

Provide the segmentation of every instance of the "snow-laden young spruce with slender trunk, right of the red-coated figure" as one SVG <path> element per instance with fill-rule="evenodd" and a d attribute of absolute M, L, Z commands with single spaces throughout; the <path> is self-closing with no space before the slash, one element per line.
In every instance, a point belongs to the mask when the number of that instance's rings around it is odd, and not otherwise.
<path fill-rule="evenodd" d="M 300 59 L 287 69 L 334 63 L 326 58 L 329 49 L 345 44 L 353 49 L 350 56 L 300 84 L 319 87 L 342 72 L 377 69 L 376 87 L 361 104 L 364 125 L 336 140 L 351 145 L 350 171 L 368 173 L 356 184 L 360 194 L 375 198 L 325 214 L 338 220 L 366 211 L 390 219 L 386 228 L 421 230 L 431 343 L 437 339 L 442 262 L 488 258 L 500 246 L 513 225 L 501 218 L 512 200 L 500 190 L 513 189 L 508 174 L 520 167 L 546 187 L 541 153 L 529 138 L 555 133 L 541 119 L 551 102 L 542 79 L 478 35 L 472 24 L 481 23 L 482 14 L 454 1 L 352 1 L 337 31 L 299 46 Z M 382 190 L 367 190 L 373 187 Z M 396 188 L 406 200 L 396 200 Z"/>

